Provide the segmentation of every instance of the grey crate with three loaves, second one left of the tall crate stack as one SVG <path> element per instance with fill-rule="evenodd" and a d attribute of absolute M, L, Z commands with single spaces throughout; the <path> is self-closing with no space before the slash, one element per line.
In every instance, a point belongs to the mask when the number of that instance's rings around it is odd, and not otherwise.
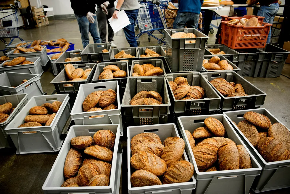
<path fill-rule="evenodd" d="M 103 68 L 108 65 L 117 65 L 118 68 L 120 68 L 120 70 L 126 71 L 127 76 L 125 78 L 99 79 L 100 74 L 104 71 Z M 123 96 L 128 77 L 129 77 L 129 66 L 128 66 L 127 61 L 104 62 L 104 63 L 98 63 L 98 65 L 96 66 L 96 70 L 95 70 L 92 82 L 97 83 L 97 82 L 117 80 L 119 82 L 121 96 Z"/>

